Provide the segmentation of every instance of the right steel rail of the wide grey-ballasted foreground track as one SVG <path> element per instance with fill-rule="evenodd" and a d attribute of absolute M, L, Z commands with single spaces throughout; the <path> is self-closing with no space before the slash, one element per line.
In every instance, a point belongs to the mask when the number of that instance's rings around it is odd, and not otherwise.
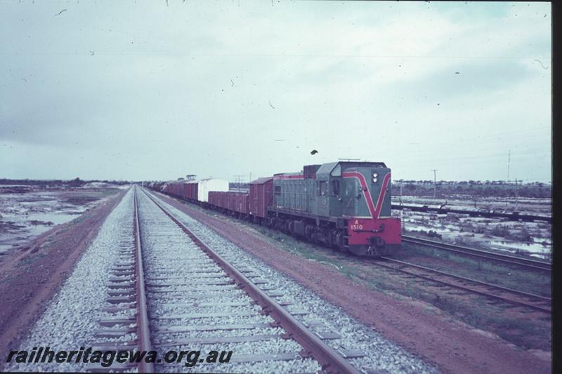
<path fill-rule="evenodd" d="M 143 191 L 144 192 L 144 191 Z M 195 243 L 197 243 L 202 250 L 209 255 L 215 262 L 220 265 L 231 278 L 235 279 L 237 285 L 242 288 L 252 299 L 263 308 L 266 314 L 269 314 L 277 323 L 289 333 L 289 337 L 298 342 L 304 349 L 306 355 L 312 356 L 320 365 L 322 370 L 327 373 L 361 373 L 349 361 L 344 359 L 341 354 L 336 352 L 335 349 L 329 347 L 322 342 L 317 335 L 312 333 L 306 326 L 294 318 L 287 312 L 281 305 L 279 305 L 273 298 L 270 298 L 263 290 L 258 288 L 252 281 L 250 281 L 242 272 L 238 271 L 233 265 L 225 260 L 221 255 L 216 253 L 213 249 L 207 246 L 197 235 L 191 232 L 188 227 L 183 225 L 174 215 L 158 203 L 153 196 L 144 192 L 162 212 L 164 212 L 172 221 L 180 227 L 185 234 L 187 234 Z"/>

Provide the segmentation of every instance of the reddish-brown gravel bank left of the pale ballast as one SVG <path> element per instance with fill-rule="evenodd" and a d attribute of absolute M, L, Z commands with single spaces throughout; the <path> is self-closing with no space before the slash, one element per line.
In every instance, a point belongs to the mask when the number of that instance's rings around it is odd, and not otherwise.
<path fill-rule="evenodd" d="M 0 295 L 4 301 L 0 308 L 0 369 L 9 347 L 17 346 L 41 316 L 46 301 L 72 273 L 125 193 L 101 201 L 78 218 L 44 232 L 0 263 Z"/>

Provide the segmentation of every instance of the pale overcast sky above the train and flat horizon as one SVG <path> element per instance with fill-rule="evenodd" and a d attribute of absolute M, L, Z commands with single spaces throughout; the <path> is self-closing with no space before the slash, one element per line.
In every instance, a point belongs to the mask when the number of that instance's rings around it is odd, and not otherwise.
<path fill-rule="evenodd" d="M 549 181 L 550 28 L 547 3 L 1 1 L 0 178 L 505 180 L 511 150 Z"/>

